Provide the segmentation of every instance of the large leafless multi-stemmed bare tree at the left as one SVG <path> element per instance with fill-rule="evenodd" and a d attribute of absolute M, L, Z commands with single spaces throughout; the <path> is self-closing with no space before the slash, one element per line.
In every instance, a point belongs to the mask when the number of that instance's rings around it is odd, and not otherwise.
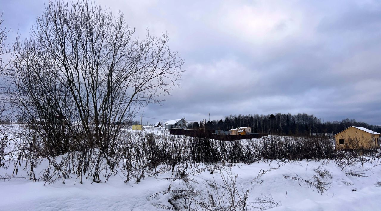
<path fill-rule="evenodd" d="M 86 0 L 49 1 L 6 71 L 8 100 L 36 132 L 31 146 L 39 140 L 46 157 L 93 148 L 114 157 L 119 123 L 178 86 L 183 60 L 167 43 L 148 30 L 138 40 L 122 13 Z"/>

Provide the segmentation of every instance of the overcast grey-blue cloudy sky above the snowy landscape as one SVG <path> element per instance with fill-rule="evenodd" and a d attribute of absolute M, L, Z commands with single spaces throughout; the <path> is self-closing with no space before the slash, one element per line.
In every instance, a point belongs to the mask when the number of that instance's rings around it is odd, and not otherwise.
<path fill-rule="evenodd" d="M 29 35 L 46 0 L 0 0 L 4 25 Z M 381 2 L 98 0 L 136 35 L 169 34 L 184 59 L 180 88 L 156 119 L 308 113 L 381 125 Z M 137 118 L 140 120 L 140 118 Z"/>

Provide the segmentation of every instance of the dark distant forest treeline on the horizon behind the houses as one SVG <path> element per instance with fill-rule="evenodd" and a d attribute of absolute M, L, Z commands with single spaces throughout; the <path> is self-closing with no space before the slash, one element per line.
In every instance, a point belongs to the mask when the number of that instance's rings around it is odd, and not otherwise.
<path fill-rule="evenodd" d="M 276 134 L 276 135 L 308 135 L 309 125 L 311 133 L 338 133 L 349 126 L 365 127 L 375 132 L 381 133 L 381 128 L 365 122 L 357 122 L 354 119 L 343 119 L 341 121 L 322 122 L 314 115 L 309 114 L 248 114 L 230 115 L 225 119 L 211 120 L 205 122 L 205 129 L 208 130 L 230 130 L 238 127 L 251 127 L 252 132 Z M 190 122 L 188 129 L 203 128 L 204 122 Z"/>

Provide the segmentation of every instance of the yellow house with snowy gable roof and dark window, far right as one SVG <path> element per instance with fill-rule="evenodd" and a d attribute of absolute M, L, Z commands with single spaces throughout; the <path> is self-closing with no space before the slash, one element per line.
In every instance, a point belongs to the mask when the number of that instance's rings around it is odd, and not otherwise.
<path fill-rule="evenodd" d="M 374 149 L 381 134 L 364 127 L 348 127 L 335 134 L 336 149 Z"/>

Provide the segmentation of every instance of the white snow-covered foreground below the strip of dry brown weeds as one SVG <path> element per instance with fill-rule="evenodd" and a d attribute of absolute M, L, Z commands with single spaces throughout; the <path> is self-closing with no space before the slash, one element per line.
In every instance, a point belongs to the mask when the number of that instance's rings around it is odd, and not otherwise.
<path fill-rule="evenodd" d="M 188 196 L 176 203 L 200 203 L 209 210 L 224 210 L 232 201 L 239 205 L 243 200 L 248 210 L 379 210 L 381 166 L 377 164 L 378 158 L 350 165 L 333 160 L 183 163 L 187 165 L 183 178 L 168 169 L 138 184 L 124 183 L 122 173 L 101 183 L 83 178 L 80 184 L 73 176 L 64 184 L 59 180 L 49 184 L 27 179 L 26 162 L 18 163 L 17 175 L 10 176 L 14 171 L 10 162 L 8 168 L 0 168 L 0 210 L 167 210 L 176 194 Z M 37 163 L 35 174 L 47 165 L 46 160 Z"/>

